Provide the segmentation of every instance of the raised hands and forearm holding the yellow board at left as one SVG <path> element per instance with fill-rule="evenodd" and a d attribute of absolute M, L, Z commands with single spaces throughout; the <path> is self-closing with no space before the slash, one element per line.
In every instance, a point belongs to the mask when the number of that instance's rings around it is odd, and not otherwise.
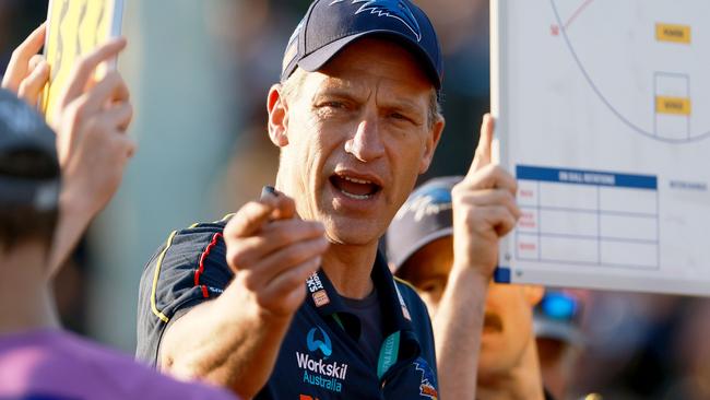
<path fill-rule="evenodd" d="M 45 34 L 43 24 L 13 51 L 2 80 L 3 89 L 15 92 L 32 106 L 49 79 L 49 66 L 37 54 Z M 67 87 L 61 87 L 52 129 L 57 133 L 62 188 L 50 275 L 58 272 L 88 223 L 114 197 L 135 151 L 135 144 L 126 136 L 133 108 L 123 79 L 110 71 L 93 82 L 96 68 L 125 48 L 122 38 L 96 48 L 79 60 Z"/>

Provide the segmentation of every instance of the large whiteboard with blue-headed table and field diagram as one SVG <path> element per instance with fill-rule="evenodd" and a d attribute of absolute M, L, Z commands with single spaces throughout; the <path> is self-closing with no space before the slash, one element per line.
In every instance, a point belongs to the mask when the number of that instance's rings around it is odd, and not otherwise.
<path fill-rule="evenodd" d="M 496 280 L 710 294 L 710 2 L 492 3 Z"/>

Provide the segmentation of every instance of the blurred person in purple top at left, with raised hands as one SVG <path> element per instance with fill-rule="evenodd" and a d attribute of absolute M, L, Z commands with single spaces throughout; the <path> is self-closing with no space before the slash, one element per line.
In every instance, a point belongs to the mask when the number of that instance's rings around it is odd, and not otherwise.
<path fill-rule="evenodd" d="M 51 277 L 120 184 L 134 152 L 126 137 L 133 110 L 118 72 L 88 83 L 126 47 L 116 39 L 74 67 L 55 134 L 29 106 L 49 78 L 35 57 L 44 36 L 42 26 L 13 52 L 0 90 L 0 398 L 233 398 L 61 329 Z"/>

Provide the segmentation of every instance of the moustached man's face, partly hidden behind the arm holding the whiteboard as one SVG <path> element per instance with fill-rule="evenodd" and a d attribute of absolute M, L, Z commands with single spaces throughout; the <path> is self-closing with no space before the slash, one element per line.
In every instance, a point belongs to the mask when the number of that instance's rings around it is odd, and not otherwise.
<path fill-rule="evenodd" d="M 433 316 L 452 263 L 453 238 L 449 236 L 419 249 L 401 271 L 401 277 L 417 289 Z M 490 283 L 481 338 L 481 376 L 505 373 L 520 362 L 532 339 L 532 307 L 541 292 L 540 287 Z"/>

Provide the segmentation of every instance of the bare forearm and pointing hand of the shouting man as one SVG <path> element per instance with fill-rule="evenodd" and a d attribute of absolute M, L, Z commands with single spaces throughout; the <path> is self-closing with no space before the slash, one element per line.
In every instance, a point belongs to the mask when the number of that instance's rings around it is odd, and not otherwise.
<path fill-rule="evenodd" d="M 224 239 L 235 278 L 220 297 L 168 326 L 161 368 L 232 388 L 244 398 L 257 395 L 305 299 L 305 281 L 329 246 L 322 224 L 295 216 L 293 200 L 279 195 L 247 203 L 232 217 Z"/>

